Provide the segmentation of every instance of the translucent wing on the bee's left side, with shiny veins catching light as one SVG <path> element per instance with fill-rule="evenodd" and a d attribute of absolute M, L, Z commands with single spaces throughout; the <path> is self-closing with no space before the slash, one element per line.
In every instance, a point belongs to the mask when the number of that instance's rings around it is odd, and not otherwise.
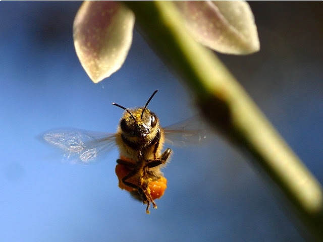
<path fill-rule="evenodd" d="M 42 135 L 48 144 L 58 147 L 73 163 L 89 164 L 98 155 L 115 146 L 115 134 L 79 129 L 51 130 Z"/>

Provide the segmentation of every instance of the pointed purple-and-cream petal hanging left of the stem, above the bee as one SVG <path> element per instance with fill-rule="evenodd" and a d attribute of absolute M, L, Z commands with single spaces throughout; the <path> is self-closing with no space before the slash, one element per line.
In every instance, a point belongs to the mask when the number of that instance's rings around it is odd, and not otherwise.
<path fill-rule="evenodd" d="M 118 71 L 132 42 L 135 17 L 120 2 L 85 1 L 73 25 L 80 62 L 94 83 Z"/>

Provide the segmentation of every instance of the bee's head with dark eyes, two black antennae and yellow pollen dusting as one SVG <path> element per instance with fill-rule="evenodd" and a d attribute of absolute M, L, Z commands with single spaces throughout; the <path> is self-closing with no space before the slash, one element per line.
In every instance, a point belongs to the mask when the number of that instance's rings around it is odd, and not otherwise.
<path fill-rule="evenodd" d="M 120 129 L 128 138 L 138 139 L 141 143 L 146 143 L 146 140 L 149 139 L 149 137 L 154 137 L 154 134 L 159 127 L 159 119 L 156 114 L 146 107 L 156 92 L 157 90 L 154 91 L 148 99 L 146 105 L 141 108 L 129 110 L 117 103 L 112 103 L 113 105 L 126 110 L 120 120 Z"/>

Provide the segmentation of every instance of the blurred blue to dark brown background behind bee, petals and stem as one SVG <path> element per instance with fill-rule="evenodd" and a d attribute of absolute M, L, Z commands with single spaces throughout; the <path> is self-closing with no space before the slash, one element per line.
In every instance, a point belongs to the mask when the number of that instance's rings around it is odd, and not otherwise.
<path fill-rule="evenodd" d="M 93 84 L 74 51 L 81 2 L 0 3 L 0 241 L 302 241 L 248 159 L 217 136 L 174 147 L 158 209 L 118 188 L 117 151 L 61 162 L 39 142 L 60 127 L 115 132 L 122 110 L 149 104 L 162 125 L 196 113 L 189 92 L 135 31 L 124 66 Z M 250 2 L 261 51 L 220 55 L 323 182 L 323 5 Z"/>

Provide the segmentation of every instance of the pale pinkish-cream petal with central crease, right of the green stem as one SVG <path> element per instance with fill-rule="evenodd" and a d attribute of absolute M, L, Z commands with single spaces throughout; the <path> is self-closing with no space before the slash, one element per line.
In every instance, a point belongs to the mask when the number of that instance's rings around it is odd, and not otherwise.
<path fill-rule="evenodd" d="M 175 1 L 186 28 L 201 44 L 222 53 L 259 50 L 257 27 L 245 1 Z"/>

